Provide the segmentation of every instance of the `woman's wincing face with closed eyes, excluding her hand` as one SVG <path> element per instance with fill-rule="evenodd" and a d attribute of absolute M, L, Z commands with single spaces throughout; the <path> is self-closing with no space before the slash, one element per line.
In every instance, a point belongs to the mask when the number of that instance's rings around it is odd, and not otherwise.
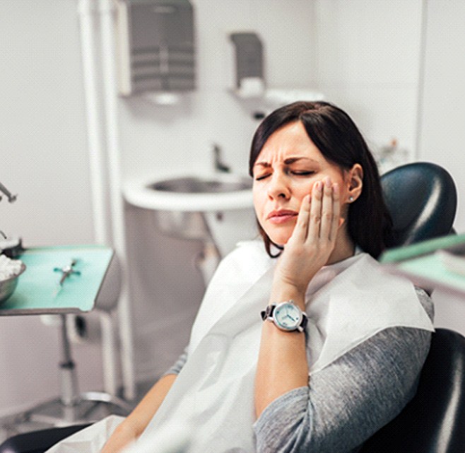
<path fill-rule="evenodd" d="M 329 177 L 339 184 L 341 206 L 348 200 L 345 172 L 324 158 L 300 121 L 271 134 L 255 161 L 253 175 L 255 213 L 261 228 L 278 245 L 288 242 L 302 199 L 315 182 Z"/>

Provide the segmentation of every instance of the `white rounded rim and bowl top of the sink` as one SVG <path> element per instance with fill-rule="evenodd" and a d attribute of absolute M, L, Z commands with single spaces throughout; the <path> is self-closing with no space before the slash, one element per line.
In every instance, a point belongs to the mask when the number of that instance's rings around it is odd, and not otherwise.
<path fill-rule="evenodd" d="M 252 178 L 184 172 L 126 182 L 130 204 L 155 211 L 212 212 L 252 208 Z"/>

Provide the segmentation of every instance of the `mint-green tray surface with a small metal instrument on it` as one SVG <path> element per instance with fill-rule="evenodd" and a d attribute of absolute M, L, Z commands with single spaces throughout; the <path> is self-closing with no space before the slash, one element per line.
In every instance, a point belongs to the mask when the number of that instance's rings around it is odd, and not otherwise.
<path fill-rule="evenodd" d="M 19 257 L 26 270 L 18 279 L 15 292 L 0 302 L 0 316 L 15 314 L 59 314 L 93 310 L 113 249 L 100 245 L 33 247 Z M 72 274 L 59 285 L 62 273 L 55 268 L 76 259 Z"/>

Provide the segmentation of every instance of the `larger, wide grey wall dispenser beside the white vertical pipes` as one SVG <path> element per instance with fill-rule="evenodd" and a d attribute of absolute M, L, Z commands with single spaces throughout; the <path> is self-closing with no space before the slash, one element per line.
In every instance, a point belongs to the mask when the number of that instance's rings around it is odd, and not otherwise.
<path fill-rule="evenodd" d="M 119 93 L 194 90 L 194 11 L 189 0 L 118 0 Z"/>

